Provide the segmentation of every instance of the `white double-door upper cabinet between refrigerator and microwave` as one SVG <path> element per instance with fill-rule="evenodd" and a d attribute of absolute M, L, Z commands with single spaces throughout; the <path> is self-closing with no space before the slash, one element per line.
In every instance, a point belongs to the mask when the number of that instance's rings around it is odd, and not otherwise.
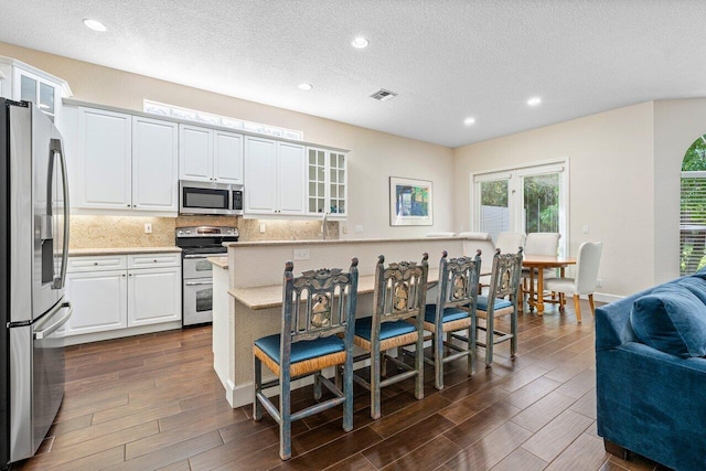
<path fill-rule="evenodd" d="M 176 214 L 176 124 L 86 107 L 66 111 L 72 207 Z"/>

